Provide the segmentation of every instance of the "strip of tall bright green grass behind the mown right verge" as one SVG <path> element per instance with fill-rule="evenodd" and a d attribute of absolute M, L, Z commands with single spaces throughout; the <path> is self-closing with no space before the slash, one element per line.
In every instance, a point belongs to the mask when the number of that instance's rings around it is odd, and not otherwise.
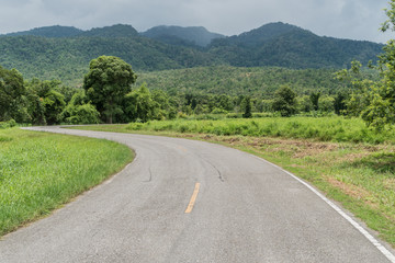
<path fill-rule="evenodd" d="M 153 130 L 176 133 L 200 133 L 213 135 L 270 136 L 320 141 L 351 141 L 381 144 L 395 142 L 392 129 L 377 133 L 359 118 L 343 117 L 268 117 L 251 119 L 211 121 L 154 121 L 145 124 L 132 123 L 128 130 Z"/>

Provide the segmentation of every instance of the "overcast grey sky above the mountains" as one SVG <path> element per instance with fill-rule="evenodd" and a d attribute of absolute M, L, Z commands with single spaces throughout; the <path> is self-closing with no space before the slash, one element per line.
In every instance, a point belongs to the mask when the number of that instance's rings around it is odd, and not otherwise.
<path fill-rule="evenodd" d="M 317 35 L 385 43 L 379 32 L 388 0 L 0 0 L 0 34 L 47 25 L 89 30 L 117 23 L 137 31 L 156 25 L 202 25 L 238 35 L 285 22 Z"/>

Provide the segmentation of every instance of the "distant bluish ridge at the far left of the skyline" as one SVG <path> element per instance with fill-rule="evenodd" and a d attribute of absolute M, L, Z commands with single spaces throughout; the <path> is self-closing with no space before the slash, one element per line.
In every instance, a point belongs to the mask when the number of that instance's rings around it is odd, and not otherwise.
<path fill-rule="evenodd" d="M 9 33 L 5 36 L 34 35 L 34 36 L 44 36 L 44 37 L 70 37 L 70 36 L 80 35 L 82 33 L 83 31 L 78 30 L 74 26 L 53 25 L 53 26 L 37 27 L 30 31 Z"/>

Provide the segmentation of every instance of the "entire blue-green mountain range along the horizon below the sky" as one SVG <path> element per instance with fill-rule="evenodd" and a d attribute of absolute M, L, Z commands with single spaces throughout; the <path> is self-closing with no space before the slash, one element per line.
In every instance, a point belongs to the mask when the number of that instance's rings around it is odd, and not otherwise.
<path fill-rule="evenodd" d="M 198 46 L 208 41 L 206 47 Z M 321 37 L 281 22 L 228 37 L 204 27 L 157 26 L 138 34 L 133 26 L 122 24 L 90 31 L 47 26 L 0 36 L 0 65 L 16 68 L 27 79 L 60 79 L 76 85 L 81 83 L 89 61 L 101 55 L 121 57 L 136 71 L 218 65 L 339 69 L 354 59 L 364 65 L 375 61 L 382 47 Z"/>

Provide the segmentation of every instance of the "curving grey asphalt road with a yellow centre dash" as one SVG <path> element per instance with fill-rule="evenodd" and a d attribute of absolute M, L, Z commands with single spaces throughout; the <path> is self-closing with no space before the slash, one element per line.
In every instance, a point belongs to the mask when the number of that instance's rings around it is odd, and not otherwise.
<path fill-rule="evenodd" d="M 120 141 L 137 156 L 52 216 L 5 236 L 1 263 L 395 262 L 348 213 L 251 155 L 187 139 L 42 129 Z"/>

